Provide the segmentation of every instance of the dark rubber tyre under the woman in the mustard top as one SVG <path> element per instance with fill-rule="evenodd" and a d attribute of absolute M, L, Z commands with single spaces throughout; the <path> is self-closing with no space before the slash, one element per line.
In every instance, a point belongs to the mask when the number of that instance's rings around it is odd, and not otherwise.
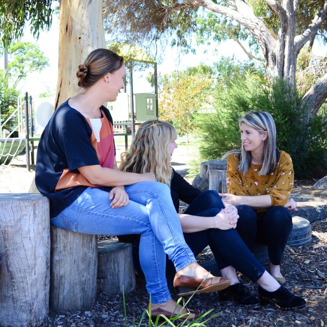
<path fill-rule="evenodd" d="M 286 244 L 291 248 L 295 248 L 311 243 L 310 221 L 299 216 L 293 216 L 292 222 L 292 232 L 290 233 Z M 253 255 L 262 265 L 268 264 L 268 247 L 266 245 L 254 244 Z"/>

